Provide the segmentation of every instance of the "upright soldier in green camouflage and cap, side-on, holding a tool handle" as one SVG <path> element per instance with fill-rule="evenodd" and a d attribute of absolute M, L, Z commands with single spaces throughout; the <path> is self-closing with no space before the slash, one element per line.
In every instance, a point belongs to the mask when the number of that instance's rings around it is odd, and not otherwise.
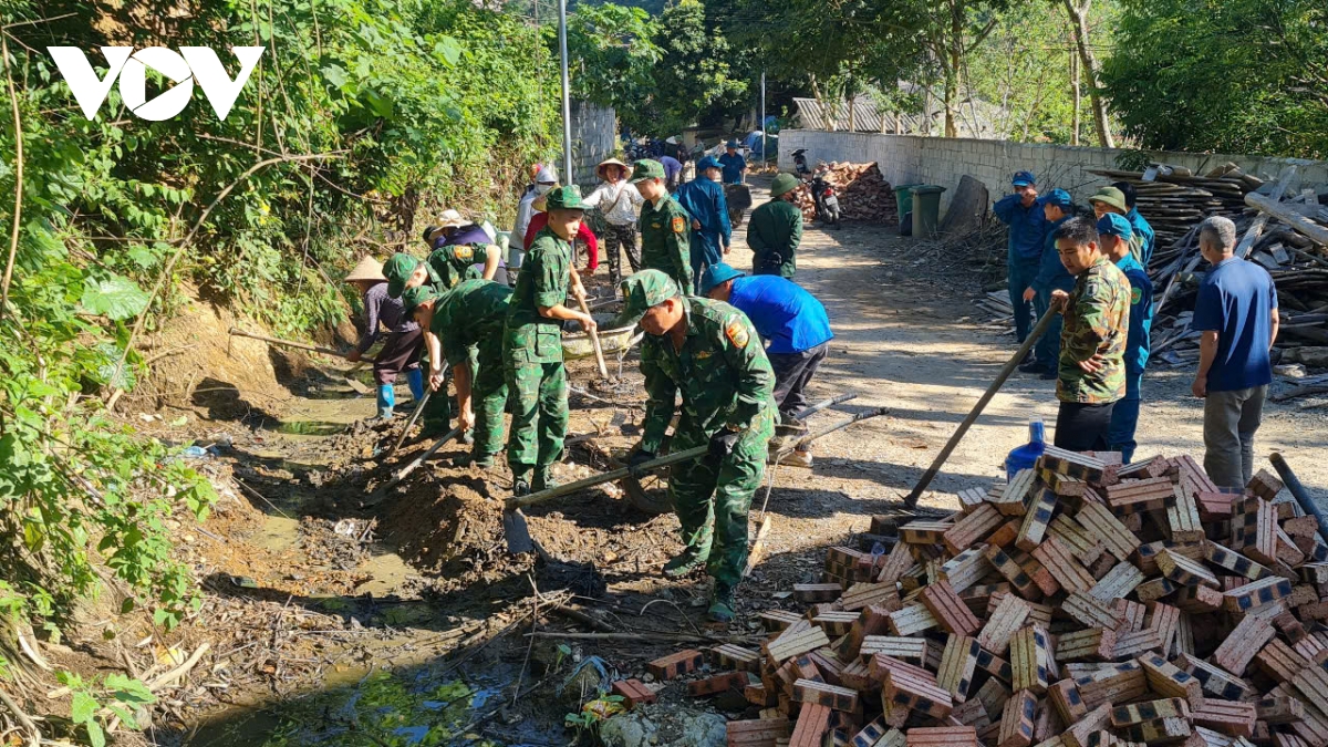
<path fill-rule="evenodd" d="M 568 290 L 574 296 L 586 294 L 572 267 L 570 243 L 586 211 L 580 193 L 572 186 L 558 187 L 548 193 L 546 210 L 548 225 L 535 234 L 521 263 L 503 331 L 503 371 L 511 392 L 507 464 L 517 496 L 551 488 L 550 471 L 563 453 L 567 372 L 562 322 L 575 319 L 586 330 L 595 328 L 588 314 L 567 307 Z"/>

